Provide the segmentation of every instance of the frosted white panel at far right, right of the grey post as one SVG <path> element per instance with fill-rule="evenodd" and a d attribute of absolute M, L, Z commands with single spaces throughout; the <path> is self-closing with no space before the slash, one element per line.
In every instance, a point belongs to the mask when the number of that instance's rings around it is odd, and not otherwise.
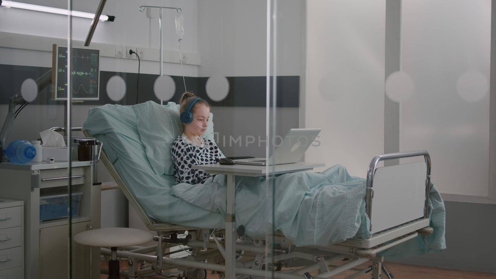
<path fill-rule="evenodd" d="M 491 0 L 403 0 L 402 24 L 403 70 L 415 90 L 401 103 L 401 150 L 431 153 L 440 192 L 487 197 L 489 91 L 469 102 L 456 84 L 476 70 L 488 85 Z"/>

